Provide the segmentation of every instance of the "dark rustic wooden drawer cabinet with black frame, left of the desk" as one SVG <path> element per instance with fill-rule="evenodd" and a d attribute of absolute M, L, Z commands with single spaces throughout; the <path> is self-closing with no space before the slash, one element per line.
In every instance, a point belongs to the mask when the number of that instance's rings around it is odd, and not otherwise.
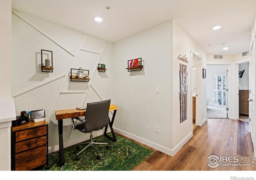
<path fill-rule="evenodd" d="M 12 127 L 12 170 L 32 170 L 48 163 L 48 123 Z"/>

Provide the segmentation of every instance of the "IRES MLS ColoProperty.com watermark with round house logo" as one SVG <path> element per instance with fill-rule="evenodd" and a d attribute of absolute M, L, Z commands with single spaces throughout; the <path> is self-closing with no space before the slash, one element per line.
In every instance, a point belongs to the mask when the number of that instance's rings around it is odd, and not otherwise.
<path fill-rule="evenodd" d="M 207 164 L 211 168 L 218 166 L 252 166 L 255 167 L 255 156 L 239 157 L 239 156 L 215 156 L 211 155 L 207 159 Z"/>

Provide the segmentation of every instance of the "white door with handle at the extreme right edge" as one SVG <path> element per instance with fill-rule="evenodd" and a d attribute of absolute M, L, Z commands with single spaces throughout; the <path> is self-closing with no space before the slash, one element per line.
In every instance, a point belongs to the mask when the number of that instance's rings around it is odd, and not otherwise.
<path fill-rule="evenodd" d="M 255 39 L 255 38 L 254 38 Z M 254 152 L 255 152 L 255 119 L 254 119 L 254 113 L 255 113 L 255 108 L 254 108 L 254 102 L 255 102 L 255 96 L 254 96 L 254 90 L 255 90 L 255 41 L 253 42 L 252 48 L 250 49 L 250 84 L 249 84 L 249 129 L 252 137 L 252 143 L 254 145 Z"/>

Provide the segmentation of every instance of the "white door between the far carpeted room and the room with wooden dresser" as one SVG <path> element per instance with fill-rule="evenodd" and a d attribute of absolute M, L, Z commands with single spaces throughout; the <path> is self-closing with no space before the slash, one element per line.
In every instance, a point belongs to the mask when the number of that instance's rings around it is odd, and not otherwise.
<path fill-rule="evenodd" d="M 239 103 L 239 94 L 238 94 L 238 64 L 230 64 L 227 67 L 228 72 L 226 73 L 227 79 L 227 108 L 228 108 L 228 118 L 238 120 L 239 119 L 239 111 L 238 111 L 238 103 Z"/>

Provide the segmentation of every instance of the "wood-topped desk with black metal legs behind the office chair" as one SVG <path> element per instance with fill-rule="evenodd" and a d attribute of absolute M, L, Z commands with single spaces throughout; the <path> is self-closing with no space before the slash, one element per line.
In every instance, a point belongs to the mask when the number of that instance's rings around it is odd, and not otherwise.
<path fill-rule="evenodd" d="M 118 107 L 116 107 L 114 104 L 110 104 L 109 110 L 114 111 L 112 120 L 110 121 L 110 118 L 108 118 L 108 120 L 109 120 L 108 125 L 110 126 L 110 130 L 111 130 L 113 137 L 110 137 L 106 134 L 108 126 L 105 127 L 104 136 L 106 136 L 107 138 L 109 138 L 110 140 L 115 142 L 116 136 L 115 136 L 112 126 L 114 123 L 114 119 L 116 116 L 116 110 L 118 110 Z M 86 112 L 86 109 L 84 109 L 84 110 L 68 109 L 68 110 L 55 111 L 55 117 L 56 117 L 56 120 L 58 120 L 60 166 L 63 166 L 65 164 L 65 162 L 64 162 L 64 146 L 63 146 L 63 119 L 82 117 L 82 116 L 85 116 L 85 112 Z"/>

